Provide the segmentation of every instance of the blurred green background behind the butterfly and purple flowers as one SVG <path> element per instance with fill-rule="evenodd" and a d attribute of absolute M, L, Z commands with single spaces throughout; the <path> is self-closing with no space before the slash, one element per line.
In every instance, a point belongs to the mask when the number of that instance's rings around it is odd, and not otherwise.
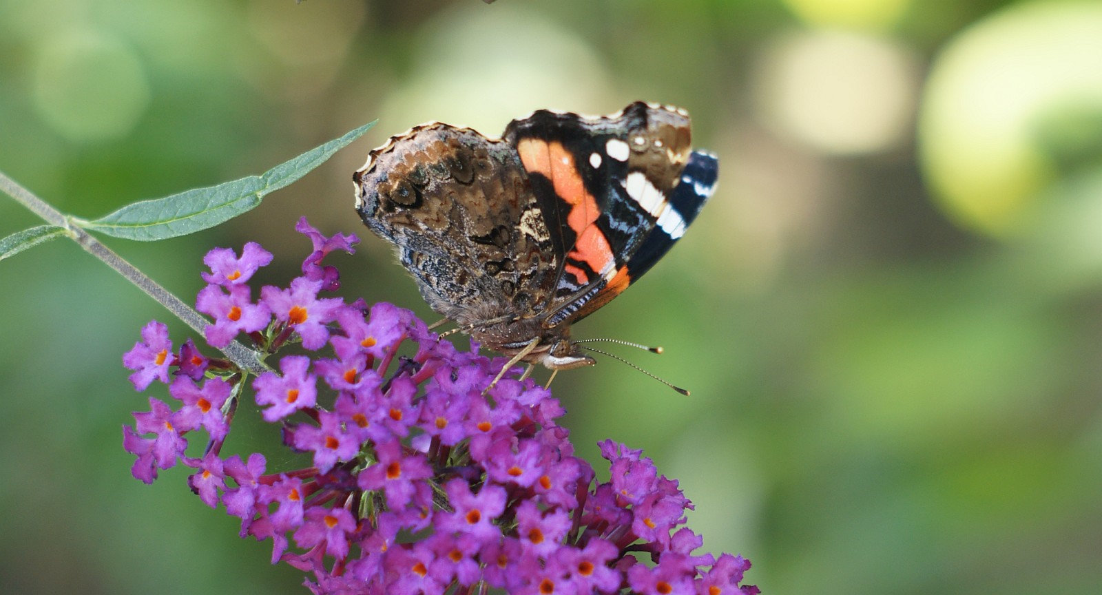
<path fill-rule="evenodd" d="M 575 336 L 663 345 L 622 355 L 692 397 L 560 375 L 582 453 L 645 448 L 768 594 L 1102 593 L 1102 3 L 0 0 L 0 170 L 78 216 L 380 119 L 247 216 L 108 240 L 186 300 L 213 246 L 285 282 L 306 215 L 364 238 L 346 295 L 435 320 L 353 213 L 368 149 L 635 99 L 692 112 L 720 188 Z M 0 199 L 0 235 L 37 223 Z M 55 241 L 0 263 L 0 592 L 304 593 L 183 469 L 130 477 L 155 303 Z"/>

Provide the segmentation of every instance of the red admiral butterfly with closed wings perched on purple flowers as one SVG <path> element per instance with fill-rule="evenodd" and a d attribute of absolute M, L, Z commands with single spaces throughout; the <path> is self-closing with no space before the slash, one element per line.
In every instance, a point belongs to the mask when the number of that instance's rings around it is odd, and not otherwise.
<path fill-rule="evenodd" d="M 511 357 L 506 369 L 566 369 L 595 364 L 570 325 L 681 238 L 717 173 L 684 110 L 635 102 L 598 118 L 540 110 L 500 140 L 418 126 L 353 180 L 357 213 L 434 311 Z"/>

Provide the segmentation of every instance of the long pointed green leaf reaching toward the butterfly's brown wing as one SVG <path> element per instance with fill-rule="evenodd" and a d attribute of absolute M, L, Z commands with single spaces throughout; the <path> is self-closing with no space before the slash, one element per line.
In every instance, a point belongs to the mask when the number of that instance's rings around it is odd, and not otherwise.
<path fill-rule="evenodd" d="M 217 186 L 184 191 L 164 198 L 132 203 L 99 219 L 77 220 L 77 223 L 86 229 L 108 236 L 141 241 L 155 241 L 202 231 L 251 210 L 260 204 L 264 195 L 306 175 L 372 126 L 374 121 L 364 125 L 261 175 L 250 175 Z"/>

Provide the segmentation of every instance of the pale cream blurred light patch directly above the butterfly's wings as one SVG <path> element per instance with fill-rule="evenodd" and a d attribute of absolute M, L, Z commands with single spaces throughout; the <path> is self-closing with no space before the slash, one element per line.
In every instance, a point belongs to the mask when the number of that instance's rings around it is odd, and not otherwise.
<path fill-rule="evenodd" d="M 613 76 L 568 28 L 518 3 L 479 2 L 442 12 L 419 32 L 414 72 L 389 89 L 380 112 L 388 133 L 426 120 L 497 137 L 539 108 L 605 112 Z"/>

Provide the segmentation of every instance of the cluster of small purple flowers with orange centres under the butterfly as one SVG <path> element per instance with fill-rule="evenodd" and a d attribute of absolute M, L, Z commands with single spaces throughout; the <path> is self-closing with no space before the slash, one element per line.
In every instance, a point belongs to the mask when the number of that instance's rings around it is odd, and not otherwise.
<path fill-rule="evenodd" d="M 314 252 L 288 289 L 264 286 L 252 301 L 248 281 L 272 257 L 248 244 L 240 257 L 207 255 L 197 300 L 214 318 L 210 345 L 245 333 L 264 353 L 293 348 L 279 374 L 250 382 L 191 342 L 174 351 L 156 322 L 123 356 L 138 390 L 159 380 L 177 401 L 150 398 L 123 426 L 134 477 L 194 468 L 192 490 L 239 517 L 242 537 L 271 539 L 272 563 L 311 573 L 317 594 L 758 593 L 739 585 L 747 560 L 692 553 L 702 540 L 681 527 L 692 505 L 640 451 L 602 443 L 612 479 L 596 484 L 555 424 L 559 401 L 519 369 L 487 390 L 504 359 L 437 340 L 407 310 L 318 298 L 339 285 L 321 260 L 357 239 L 325 238 L 305 219 L 296 229 Z M 222 455 L 247 387 L 311 467 Z M 184 436 L 199 430 L 206 447 L 188 456 Z"/>

